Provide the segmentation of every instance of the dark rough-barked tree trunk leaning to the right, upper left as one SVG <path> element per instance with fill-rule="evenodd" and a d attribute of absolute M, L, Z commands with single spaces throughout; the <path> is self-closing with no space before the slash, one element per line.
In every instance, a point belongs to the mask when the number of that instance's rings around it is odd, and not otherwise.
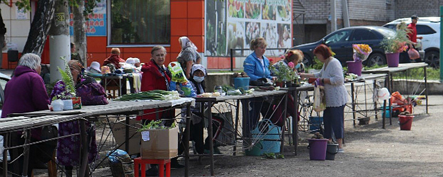
<path fill-rule="evenodd" d="M 23 54 L 34 53 L 42 56 L 46 38 L 54 18 L 55 0 L 40 0 L 35 16 L 32 19 L 31 29 L 26 40 Z"/>

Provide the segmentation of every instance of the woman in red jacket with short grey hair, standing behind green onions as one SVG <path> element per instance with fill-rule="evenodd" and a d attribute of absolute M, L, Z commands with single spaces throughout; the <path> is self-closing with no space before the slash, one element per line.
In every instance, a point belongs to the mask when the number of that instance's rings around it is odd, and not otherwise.
<path fill-rule="evenodd" d="M 143 65 L 141 71 L 143 72 L 141 80 L 141 91 L 152 91 L 152 90 L 164 90 L 169 91 L 169 82 L 171 81 L 171 73 L 163 65 L 166 59 L 166 49 L 162 46 L 155 46 L 151 51 L 152 58 L 146 65 Z M 160 111 L 160 110 L 158 110 Z M 158 112 L 158 117 L 156 118 L 155 109 L 144 110 L 143 116 L 138 116 L 137 120 L 147 119 L 156 120 L 162 118 L 163 112 Z M 151 114 L 148 114 L 151 113 Z M 169 115 L 169 114 L 168 114 Z M 143 123 L 145 123 L 143 121 Z"/>

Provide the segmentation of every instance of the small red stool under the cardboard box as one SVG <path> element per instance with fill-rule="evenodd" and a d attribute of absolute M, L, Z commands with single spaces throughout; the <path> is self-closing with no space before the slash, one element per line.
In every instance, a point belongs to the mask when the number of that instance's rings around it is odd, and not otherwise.
<path fill-rule="evenodd" d="M 142 177 L 146 177 L 146 164 L 158 164 L 158 176 L 163 177 L 164 174 L 164 165 L 166 164 L 166 177 L 171 176 L 171 159 L 142 159 L 141 157 L 137 157 L 134 159 L 134 173 L 135 177 L 138 176 L 138 165 L 141 166 L 141 174 Z"/>

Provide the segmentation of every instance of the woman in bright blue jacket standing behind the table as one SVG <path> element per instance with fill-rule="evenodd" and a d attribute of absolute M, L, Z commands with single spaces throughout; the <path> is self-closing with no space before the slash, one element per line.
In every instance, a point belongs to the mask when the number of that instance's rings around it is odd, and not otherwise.
<path fill-rule="evenodd" d="M 266 40 L 263 37 L 252 39 L 250 46 L 251 51 L 254 52 L 243 62 L 243 69 L 249 75 L 250 81 L 263 80 L 267 82 L 267 79 L 274 80 L 275 77 L 272 77 L 269 71 L 269 60 L 264 56 L 267 46 Z M 273 111 L 269 102 L 263 100 L 263 98 L 251 98 L 243 100 L 241 103 L 243 104 L 243 111 L 249 113 L 249 118 L 243 119 L 243 136 L 247 138 L 250 137 L 251 130 L 257 125 L 260 113 L 263 119 L 269 119 Z"/>

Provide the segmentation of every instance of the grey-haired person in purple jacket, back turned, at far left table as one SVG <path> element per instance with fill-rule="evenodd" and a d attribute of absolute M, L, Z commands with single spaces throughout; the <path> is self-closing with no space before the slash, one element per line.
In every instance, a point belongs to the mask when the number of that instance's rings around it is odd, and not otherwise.
<path fill-rule="evenodd" d="M 24 113 L 48 109 L 49 97 L 45 84 L 39 75 L 42 67 L 41 59 L 35 54 L 24 54 L 14 71 L 14 76 L 5 86 L 5 102 L 3 104 L 2 118 L 6 118 L 11 113 Z M 31 142 L 40 140 L 41 128 L 31 130 Z M 21 132 L 12 135 L 12 146 L 23 145 L 25 139 L 21 138 Z M 31 176 L 33 166 L 38 163 L 38 155 L 51 154 L 46 149 L 37 148 L 39 144 L 30 146 L 28 172 L 23 176 Z M 23 148 L 15 148 L 11 151 L 11 159 L 19 157 L 23 153 Z M 16 174 L 21 174 L 23 170 L 23 157 L 14 161 L 11 170 Z"/>

